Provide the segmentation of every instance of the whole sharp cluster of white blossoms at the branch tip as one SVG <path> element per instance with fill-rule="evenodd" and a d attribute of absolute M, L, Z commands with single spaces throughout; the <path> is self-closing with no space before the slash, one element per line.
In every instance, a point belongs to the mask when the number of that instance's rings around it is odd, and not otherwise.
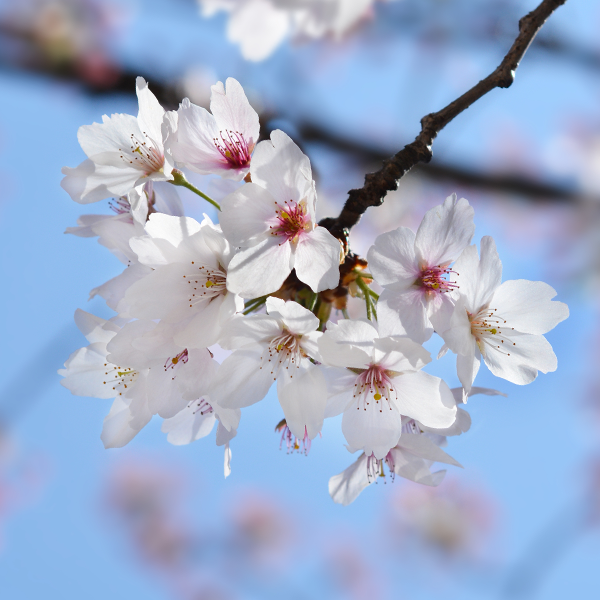
<path fill-rule="evenodd" d="M 544 334 L 567 306 L 543 282 L 502 283 L 494 240 L 483 237 L 480 253 L 471 245 L 464 198 L 429 210 L 416 233 L 380 235 L 364 260 L 317 222 L 308 157 L 279 130 L 259 141 L 258 115 L 236 80 L 212 87 L 211 112 L 187 99 L 165 111 L 142 78 L 137 93 L 137 118 L 81 127 L 88 158 L 63 169 L 73 200 L 112 197 L 116 213 L 84 215 L 67 231 L 97 236 L 126 265 L 92 290 L 116 315 L 78 310 L 89 345 L 60 371 L 72 393 L 113 399 L 106 447 L 124 446 L 154 415 L 173 444 L 217 424 L 227 476 L 241 409 L 276 383 L 288 449 L 308 452 L 324 419 L 343 415 L 347 447 L 361 454 L 329 491 L 347 504 L 386 470 L 435 486 L 445 471 L 433 463 L 460 466 L 442 450 L 470 427 L 460 405 L 499 393 L 473 385 L 482 358 L 516 384 L 556 369 Z M 235 189 L 218 204 L 184 170 Z M 219 223 L 184 216 L 176 186 L 219 208 Z M 367 318 L 349 318 L 349 295 Z M 457 356 L 460 388 L 424 371 L 434 332 L 440 355 Z M 220 364 L 216 348 L 227 354 Z"/>

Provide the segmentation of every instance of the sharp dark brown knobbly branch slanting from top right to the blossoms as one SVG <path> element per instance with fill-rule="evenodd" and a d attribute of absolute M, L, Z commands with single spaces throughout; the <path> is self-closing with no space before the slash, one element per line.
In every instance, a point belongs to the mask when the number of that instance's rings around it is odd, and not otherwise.
<path fill-rule="evenodd" d="M 345 239 L 347 232 L 359 222 L 367 208 L 382 204 L 386 194 L 398 189 L 398 181 L 417 163 L 431 160 L 433 141 L 450 121 L 494 88 L 512 85 L 515 71 L 533 38 L 548 17 L 565 2 L 566 0 L 543 0 L 535 10 L 524 16 L 519 21 L 519 35 L 496 70 L 442 110 L 423 117 L 421 133 L 415 141 L 384 161 L 379 171 L 367 174 L 362 188 L 350 190 L 348 200 L 337 219 L 326 219 L 322 224 L 340 239 Z"/>

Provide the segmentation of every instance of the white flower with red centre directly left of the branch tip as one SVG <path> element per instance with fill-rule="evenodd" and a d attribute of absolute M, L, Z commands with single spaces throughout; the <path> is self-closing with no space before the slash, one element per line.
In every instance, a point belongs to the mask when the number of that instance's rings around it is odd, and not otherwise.
<path fill-rule="evenodd" d="M 250 166 L 252 183 L 223 199 L 219 222 L 241 250 L 227 288 L 244 298 L 277 291 L 292 269 L 314 292 L 337 287 L 341 246 L 316 223 L 310 161 L 282 131 L 261 142 Z"/>

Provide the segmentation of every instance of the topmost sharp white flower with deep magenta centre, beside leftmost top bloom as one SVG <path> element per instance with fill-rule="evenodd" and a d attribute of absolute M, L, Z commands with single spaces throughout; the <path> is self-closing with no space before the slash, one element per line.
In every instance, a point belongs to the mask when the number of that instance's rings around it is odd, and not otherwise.
<path fill-rule="evenodd" d="M 181 103 L 177 131 L 167 142 L 178 164 L 201 174 L 241 181 L 250 168 L 260 125 L 242 86 L 227 79 L 211 90 L 210 114 L 187 98 Z"/>

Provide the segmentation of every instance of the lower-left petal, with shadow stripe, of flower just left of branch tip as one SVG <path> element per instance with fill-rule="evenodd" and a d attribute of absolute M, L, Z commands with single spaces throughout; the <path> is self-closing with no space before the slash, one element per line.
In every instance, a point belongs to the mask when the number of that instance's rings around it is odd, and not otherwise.
<path fill-rule="evenodd" d="M 238 252 L 229 263 L 227 289 L 242 298 L 259 298 L 276 292 L 292 272 L 289 244 L 267 238 Z"/>

